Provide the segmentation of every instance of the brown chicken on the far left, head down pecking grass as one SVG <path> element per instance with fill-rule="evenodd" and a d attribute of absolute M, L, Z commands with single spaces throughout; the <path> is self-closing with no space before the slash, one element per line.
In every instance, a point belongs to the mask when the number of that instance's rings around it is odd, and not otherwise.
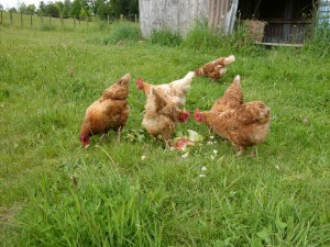
<path fill-rule="evenodd" d="M 120 134 L 130 114 L 128 104 L 130 80 L 131 75 L 124 75 L 87 108 L 80 130 L 80 142 L 84 147 L 89 145 L 92 135 L 106 134 L 110 130 Z"/>

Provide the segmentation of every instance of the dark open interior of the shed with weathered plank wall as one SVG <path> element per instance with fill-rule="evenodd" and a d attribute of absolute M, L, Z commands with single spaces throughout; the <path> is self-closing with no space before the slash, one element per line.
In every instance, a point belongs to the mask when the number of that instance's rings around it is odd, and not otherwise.
<path fill-rule="evenodd" d="M 263 42 L 304 43 L 315 13 L 322 15 L 319 21 L 328 21 L 329 8 L 328 0 L 241 0 L 238 16 L 266 22 Z"/>

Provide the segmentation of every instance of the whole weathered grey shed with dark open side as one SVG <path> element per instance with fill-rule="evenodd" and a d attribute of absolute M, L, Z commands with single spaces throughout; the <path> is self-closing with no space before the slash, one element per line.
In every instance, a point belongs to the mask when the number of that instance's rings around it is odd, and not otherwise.
<path fill-rule="evenodd" d="M 239 19 L 266 23 L 260 42 L 304 43 L 315 13 L 319 23 L 330 23 L 330 0 L 139 0 L 139 8 L 144 37 L 162 29 L 185 35 L 197 19 L 228 34 Z"/>

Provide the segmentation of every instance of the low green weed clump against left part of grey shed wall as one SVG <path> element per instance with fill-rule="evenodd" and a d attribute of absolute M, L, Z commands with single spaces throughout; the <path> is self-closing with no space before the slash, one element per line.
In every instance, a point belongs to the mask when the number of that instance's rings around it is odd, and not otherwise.
<path fill-rule="evenodd" d="M 165 46 L 178 46 L 183 41 L 179 34 L 173 34 L 169 30 L 155 30 L 153 31 L 150 40 L 153 44 Z"/>

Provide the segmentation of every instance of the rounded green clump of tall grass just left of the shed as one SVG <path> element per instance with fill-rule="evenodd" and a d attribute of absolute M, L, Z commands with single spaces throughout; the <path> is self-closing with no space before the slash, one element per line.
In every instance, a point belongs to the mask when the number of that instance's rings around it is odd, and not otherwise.
<path fill-rule="evenodd" d="M 141 38 L 140 26 L 130 22 L 118 22 L 109 36 L 103 42 L 105 44 L 117 44 L 118 42 L 138 42 Z"/>

